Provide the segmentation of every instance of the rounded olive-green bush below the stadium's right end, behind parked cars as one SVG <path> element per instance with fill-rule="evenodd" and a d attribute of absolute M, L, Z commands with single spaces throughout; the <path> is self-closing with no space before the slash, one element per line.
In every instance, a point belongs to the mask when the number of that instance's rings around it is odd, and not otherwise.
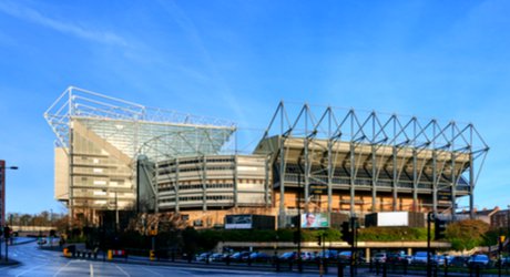
<path fill-rule="evenodd" d="M 455 222 L 448 225 L 446 238 L 455 250 L 467 250 L 483 244 L 489 224 L 478 219 Z"/>

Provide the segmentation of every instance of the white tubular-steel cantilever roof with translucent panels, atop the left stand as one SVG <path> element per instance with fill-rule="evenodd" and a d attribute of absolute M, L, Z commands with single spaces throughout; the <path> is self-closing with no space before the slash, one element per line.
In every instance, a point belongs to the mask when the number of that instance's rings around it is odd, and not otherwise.
<path fill-rule="evenodd" d="M 228 121 L 146 107 L 74 86 L 57 99 L 44 119 L 57 146 L 69 147 L 70 129 L 79 123 L 131 158 L 145 154 L 155 161 L 216 154 L 236 130 Z"/>

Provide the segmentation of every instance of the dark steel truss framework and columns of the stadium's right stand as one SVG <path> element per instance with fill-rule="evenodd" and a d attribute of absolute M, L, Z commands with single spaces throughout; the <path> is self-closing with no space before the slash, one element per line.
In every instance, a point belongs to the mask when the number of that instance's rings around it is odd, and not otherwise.
<path fill-rule="evenodd" d="M 438 212 L 438 193 L 445 189 L 451 193 L 451 209 L 455 211 L 457 187 L 468 185 L 471 217 L 473 216 L 473 189 L 489 146 L 471 123 L 451 121 L 441 124 L 434 119 L 419 120 L 416 116 L 399 116 L 375 111 L 357 112 L 353 109 L 333 106 L 326 106 L 318 114 L 315 112 L 316 110 L 306 103 L 298 110 L 292 110 L 280 102 L 263 135 L 263 141 L 272 136 L 277 136 L 279 141 L 277 148 L 273 148 L 272 152 L 277 153 L 274 155 L 279 161 L 280 174 L 279 181 L 276 182 L 280 187 L 280 214 L 285 213 L 285 173 L 288 166 L 289 142 L 302 137 L 303 150 L 298 157 L 298 165 L 304 175 L 305 208 L 309 201 L 308 186 L 312 183 L 324 183 L 328 187 L 328 212 L 330 212 L 335 172 L 338 167 L 347 165 L 347 171 L 350 173 L 350 214 L 354 215 L 357 175 L 364 164 L 370 163 L 375 165 L 370 168 L 373 207 L 376 206 L 378 178 L 381 172 L 389 168 L 389 174 L 392 175 L 394 199 L 397 197 L 399 181 L 404 175 L 410 175 L 415 201 L 418 197 L 417 188 L 420 181 L 430 178 L 434 195 L 432 211 Z M 326 145 L 320 144 L 320 141 L 325 141 Z M 335 164 L 337 161 L 335 155 L 338 155 L 338 151 L 335 150 L 343 143 L 348 143 L 347 161 L 343 165 Z M 326 181 L 314 177 L 312 170 L 310 154 L 317 147 L 322 147 L 323 154 L 326 155 L 324 157 L 327 164 Z M 370 148 L 370 154 L 361 155 L 361 150 L 367 147 Z M 385 153 L 387 151 L 389 152 Z M 479 160 L 481 162 L 476 163 Z M 382 166 L 377 166 L 380 164 Z M 409 172 L 411 165 L 412 171 Z M 445 183 L 449 185 L 441 187 Z M 396 201 L 394 201 L 394 209 Z"/>

